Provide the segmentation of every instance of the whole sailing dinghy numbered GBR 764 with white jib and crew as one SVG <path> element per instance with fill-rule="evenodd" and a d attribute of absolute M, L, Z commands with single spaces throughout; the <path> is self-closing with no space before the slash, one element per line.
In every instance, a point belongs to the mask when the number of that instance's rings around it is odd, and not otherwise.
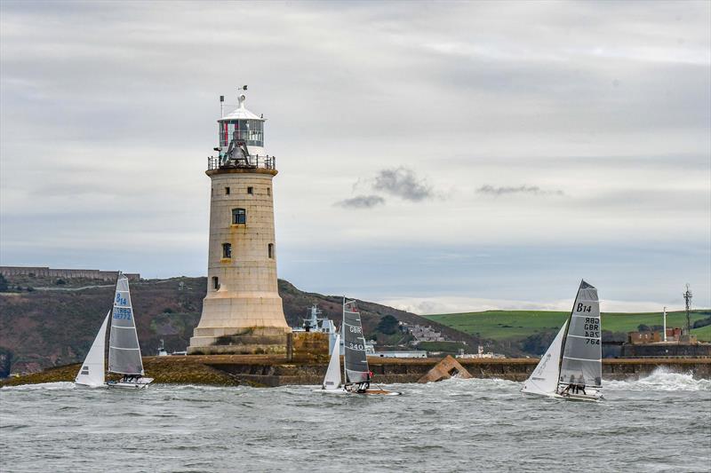
<path fill-rule="evenodd" d="M 571 315 L 563 323 L 522 392 L 570 400 L 603 398 L 603 351 L 597 289 L 580 282 Z"/>

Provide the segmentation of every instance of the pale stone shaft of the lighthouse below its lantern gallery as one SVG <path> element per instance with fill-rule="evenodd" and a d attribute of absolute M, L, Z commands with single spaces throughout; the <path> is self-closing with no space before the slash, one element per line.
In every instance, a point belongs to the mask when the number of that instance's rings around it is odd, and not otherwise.
<path fill-rule="evenodd" d="M 276 281 L 272 189 L 276 170 L 214 169 L 208 175 L 212 178 L 208 288 L 189 351 L 224 353 L 229 349 L 206 347 L 221 345 L 219 337 L 240 335 L 244 329 L 259 327 L 252 335 L 278 337 L 291 328 Z M 233 209 L 244 209 L 244 223 L 233 221 Z M 230 255 L 225 254 L 225 244 Z"/>

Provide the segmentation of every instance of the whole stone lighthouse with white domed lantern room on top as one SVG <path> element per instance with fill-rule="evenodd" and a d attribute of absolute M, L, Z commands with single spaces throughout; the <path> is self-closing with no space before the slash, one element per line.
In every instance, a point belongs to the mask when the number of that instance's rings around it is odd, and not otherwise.
<path fill-rule="evenodd" d="M 276 159 L 264 149 L 264 118 L 245 99 L 240 93 L 236 110 L 218 120 L 219 155 L 205 171 L 212 181 L 207 296 L 191 354 L 284 352 L 292 331 L 276 284 Z"/>

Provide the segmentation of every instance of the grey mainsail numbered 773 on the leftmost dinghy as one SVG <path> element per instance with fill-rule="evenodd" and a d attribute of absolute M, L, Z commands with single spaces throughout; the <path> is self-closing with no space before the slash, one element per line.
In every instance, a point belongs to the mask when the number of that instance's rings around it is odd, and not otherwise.
<path fill-rule="evenodd" d="M 111 311 L 111 335 L 108 337 L 108 371 L 143 375 L 139 337 L 133 320 L 128 278 L 119 273 Z"/>

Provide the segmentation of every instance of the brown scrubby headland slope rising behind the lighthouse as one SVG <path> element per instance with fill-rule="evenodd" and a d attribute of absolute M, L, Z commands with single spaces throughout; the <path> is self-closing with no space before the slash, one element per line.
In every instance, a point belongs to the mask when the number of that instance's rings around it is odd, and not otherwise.
<path fill-rule="evenodd" d="M 78 363 L 84 359 L 94 336 L 111 307 L 114 286 L 102 280 L 9 280 L 17 292 L 0 293 L 0 377 L 9 372 L 36 372 L 45 367 Z M 20 289 L 18 289 L 20 287 Z M 31 290 L 28 290 L 31 288 Z M 161 340 L 167 351 L 183 351 L 200 319 L 207 288 L 205 278 L 172 278 L 132 282 L 141 352 L 155 355 Z M 324 315 L 340 325 L 340 296 L 306 293 L 287 281 L 279 281 L 284 314 L 292 327 L 300 326 L 308 307 L 318 304 Z M 432 325 L 457 340 L 475 347 L 475 339 L 419 316 L 384 305 L 360 302 L 365 333 L 381 340 L 376 327 L 385 315 Z M 397 336 L 395 336 L 396 338 Z"/>

